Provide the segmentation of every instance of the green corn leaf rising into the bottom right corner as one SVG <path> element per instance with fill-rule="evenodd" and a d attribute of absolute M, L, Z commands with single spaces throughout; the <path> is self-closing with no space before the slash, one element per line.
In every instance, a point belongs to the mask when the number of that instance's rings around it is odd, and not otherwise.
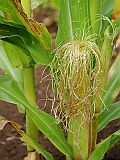
<path fill-rule="evenodd" d="M 105 153 L 120 140 L 120 130 L 100 142 L 88 160 L 102 160 Z"/>

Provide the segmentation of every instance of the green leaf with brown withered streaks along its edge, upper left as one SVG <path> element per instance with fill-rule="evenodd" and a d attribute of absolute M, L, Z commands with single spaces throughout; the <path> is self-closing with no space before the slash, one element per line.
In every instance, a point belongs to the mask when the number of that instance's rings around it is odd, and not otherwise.
<path fill-rule="evenodd" d="M 44 35 L 43 28 L 41 28 L 35 20 L 28 19 L 23 11 L 23 7 L 20 1 L 0 0 L 0 10 L 6 14 L 8 20 L 24 25 L 28 32 L 30 32 L 32 35 L 38 38 L 40 42 L 42 42 L 41 35 Z M 49 35 L 48 31 L 47 34 Z"/>

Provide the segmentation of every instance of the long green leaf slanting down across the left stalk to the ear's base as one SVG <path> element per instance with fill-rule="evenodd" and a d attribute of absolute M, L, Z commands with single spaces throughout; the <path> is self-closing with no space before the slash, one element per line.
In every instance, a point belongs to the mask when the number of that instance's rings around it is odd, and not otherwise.
<path fill-rule="evenodd" d="M 65 155 L 72 156 L 62 128 L 49 114 L 32 107 L 19 89 L 17 83 L 7 77 L 0 77 L 0 99 L 25 106 L 28 115 L 44 135 Z"/>

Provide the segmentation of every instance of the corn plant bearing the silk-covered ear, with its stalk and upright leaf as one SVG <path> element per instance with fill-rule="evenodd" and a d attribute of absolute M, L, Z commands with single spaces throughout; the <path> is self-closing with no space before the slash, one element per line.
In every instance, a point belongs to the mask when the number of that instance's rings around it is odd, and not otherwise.
<path fill-rule="evenodd" d="M 96 148 L 98 116 L 118 29 L 110 21 L 118 18 L 118 1 L 112 18 L 107 13 L 110 19 L 103 13 L 106 4 L 81 0 L 61 1 L 60 6 L 58 49 L 51 72 L 60 101 L 58 110 L 69 121 L 68 143 L 76 160 L 89 158 Z"/>

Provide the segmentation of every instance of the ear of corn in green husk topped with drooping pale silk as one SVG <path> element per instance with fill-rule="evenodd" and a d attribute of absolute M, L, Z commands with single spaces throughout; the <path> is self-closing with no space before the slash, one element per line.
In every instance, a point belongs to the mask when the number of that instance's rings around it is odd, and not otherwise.
<path fill-rule="evenodd" d="M 102 63 L 101 53 L 95 43 L 72 41 L 56 51 L 51 64 L 51 74 L 60 101 L 58 111 L 62 113 L 61 116 L 69 117 L 69 132 L 73 134 L 76 159 L 79 158 L 77 148 L 85 159 L 95 147 L 96 132 L 93 128 L 97 129 L 100 111 L 104 75 Z"/>

